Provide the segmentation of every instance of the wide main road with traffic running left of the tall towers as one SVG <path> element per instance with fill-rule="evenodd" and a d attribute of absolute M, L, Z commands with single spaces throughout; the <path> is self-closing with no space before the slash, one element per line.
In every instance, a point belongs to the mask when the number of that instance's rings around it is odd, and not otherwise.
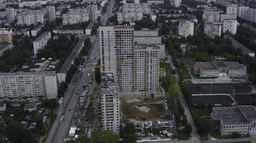
<path fill-rule="evenodd" d="M 109 1 L 109 6 L 106 10 L 106 13 L 104 16 L 101 17 L 101 24 L 106 25 L 107 20 L 109 19 L 109 16 L 111 16 L 112 9 L 114 7 L 114 0 Z M 98 39 L 98 33 L 97 32 L 97 38 L 92 37 L 91 43 L 92 47 L 90 51 L 88 52 L 88 59 L 91 60 L 93 57 L 98 58 L 99 57 L 99 39 Z M 92 61 L 96 62 L 96 61 Z M 58 108 L 58 116 L 55 119 L 55 122 L 52 125 L 52 129 L 50 130 L 48 136 L 47 136 L 47 143 L 63 143 L 63 139 L 68 134 L 68 131 L 70 129 L 70 124 L 73 119 L 74 112 L 76 111 L 76 107 L 78 104 L 79 97 L 76 97 L 76 94 L 79 96 L 83 84 L 89 84 L 89 78 L 88 74 L 91 74 L 91 65 L 89 64 L 88 60 L 86 60 L 83 64 L 83 69 L 88 69 L 83 71 L 82 73 L 79 73 L 77 76 L 81 77 L 81 79 L 78 78 L 78 80 L 74 79 L 68 84 L 68 89 L 65 92 L 65 96 L 63 97 L 63 103 L 66 103 L 66 107 L 60 106 Z M 91 77 L 90 77 L 91 78 Z M 74 82 L 76 80 L 76 82 Z M 64 115 L 63 122 L 60 123 L 60 117 Z"/>

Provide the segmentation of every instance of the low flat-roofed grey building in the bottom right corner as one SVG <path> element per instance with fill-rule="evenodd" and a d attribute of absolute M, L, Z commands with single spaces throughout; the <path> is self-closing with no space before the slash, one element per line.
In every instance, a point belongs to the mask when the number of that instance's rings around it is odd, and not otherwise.
<path fill-rule="evenodd" d="M 219 128 L 221 135 L 233 132 L 256 134 L 256 108 L 252 105 L 237 107 L 214 107 L 211 112 L 213 127 Z"/>

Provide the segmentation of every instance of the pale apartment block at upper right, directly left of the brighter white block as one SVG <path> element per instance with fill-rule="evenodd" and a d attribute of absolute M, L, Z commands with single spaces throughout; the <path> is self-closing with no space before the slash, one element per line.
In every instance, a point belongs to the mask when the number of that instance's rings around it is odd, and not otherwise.
<path fill-rule="evenodd" d="M 211 39 L 214 39 L 215 36 L 221 36 L 221 27 L 222 27 L 222 24 L 219 22 L 205 23 L 204 33 L 207 36 L 209 36 Z"/>

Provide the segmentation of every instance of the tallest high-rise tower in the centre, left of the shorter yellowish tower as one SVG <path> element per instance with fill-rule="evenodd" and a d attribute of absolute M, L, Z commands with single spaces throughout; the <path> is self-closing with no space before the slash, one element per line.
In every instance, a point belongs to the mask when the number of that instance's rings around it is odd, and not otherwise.
<path fill-rule="evenodd" d="M 101 26 L 99 37 L 101 72 L 114 74 L 120 94 L 145 96 L 148 92 L 134 88 L 134 76 L 137 74 L 134 70 L 134 29 L 130 26 Z"/>

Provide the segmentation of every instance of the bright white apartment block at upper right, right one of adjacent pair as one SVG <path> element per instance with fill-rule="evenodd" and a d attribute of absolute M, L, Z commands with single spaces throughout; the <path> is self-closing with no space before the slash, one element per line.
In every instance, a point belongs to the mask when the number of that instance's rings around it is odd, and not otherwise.
<path fill-rule="evenodd" d="M 224 20 L 222 24 L 222 33 L 229 32 L 230 34 L 237 33 L 237 20 L 229 19 Z"/>

